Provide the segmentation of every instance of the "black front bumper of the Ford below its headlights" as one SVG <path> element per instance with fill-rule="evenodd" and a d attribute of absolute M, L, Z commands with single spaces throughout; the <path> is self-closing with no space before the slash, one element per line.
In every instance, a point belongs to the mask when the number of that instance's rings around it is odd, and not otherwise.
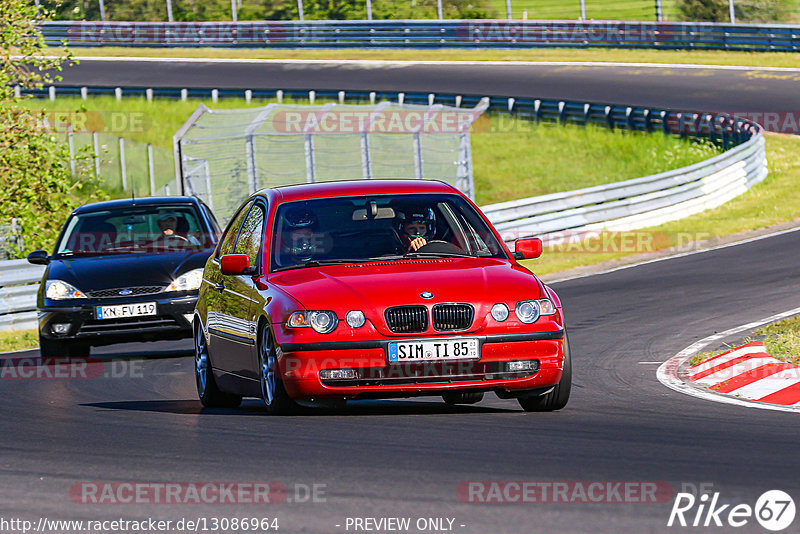
<path fill-rule="evenodd" d="M 156 298 L 159 297 L 159 298 Z M 96 306 L 155 302 L 156 315 L 118 319 L 96 319 Z M 169 297 L 148 295 L 135 298 L 81 299 L 68 304 L 47 300 L 38 308 L 39 333 L 46 339 L 82 341 L 89 345 L 110 345 L 128 341 L 156 341 L 192 336 L 192 319 L 197 295 L 176 293 Z M 53 323 L 68 323 L 66 334 L 55 334 Z"/>

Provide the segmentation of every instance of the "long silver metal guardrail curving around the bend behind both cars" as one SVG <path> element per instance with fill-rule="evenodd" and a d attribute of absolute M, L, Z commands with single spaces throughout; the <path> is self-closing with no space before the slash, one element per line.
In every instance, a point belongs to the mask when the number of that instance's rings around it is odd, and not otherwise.
<path fill-rule="evenodd" d="M 32 91 L 39 97 L 53 96 L 55 88 Z M 114 87 L 58 87 L 59 93 L 114 94 Z M 432 105 L 474 107 L 481 96 L 432 93 L 368 91 L 280 91 L 198 90 L 178 88 L 124 88 L 120 94 L 186 99 L 256 97 L 282 100 L 339 102 L 396 100 Z M 653 108 L 610 106 L 586 102 L 491 97 L 489 112 L 508 113 L 521 119 L 561 124 L 597 124 L 609 129 L 667 134 L 707 139 L 726 149 L 709 160 L 652 176 L 602 186 L 554 193 L 499 204 L 482 209 L 508 239 L 542 236 L 555 239 L 600 229 L 632 230 L 675 220 L 740 195 L 767 175 L 762 128 L 747 119 L 724 113 L 694 113 Z M 491 124 L 490 126 L 491 127 Z M 35 328 L 36 285 L 9 288 L 38 281 L 43 267 L 26 260 L 0 262 L 0 330 Z M 6 312 L 5 310 L 9 310 Z"/>

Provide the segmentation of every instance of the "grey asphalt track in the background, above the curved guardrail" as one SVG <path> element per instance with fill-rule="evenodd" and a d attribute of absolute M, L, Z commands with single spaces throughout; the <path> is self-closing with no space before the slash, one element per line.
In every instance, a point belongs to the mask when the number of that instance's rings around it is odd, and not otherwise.
<path fill-rule="evenodd" d="M 82 58 L 61 85 L 422 91 L 697 111 L 797 111 L 800 69 Z M 766 96 L 769 95 L 769 98 Z"/>

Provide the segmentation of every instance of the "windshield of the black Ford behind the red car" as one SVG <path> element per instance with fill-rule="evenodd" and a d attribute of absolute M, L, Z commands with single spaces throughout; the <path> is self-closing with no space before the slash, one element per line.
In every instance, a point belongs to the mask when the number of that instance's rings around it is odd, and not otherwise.
<path fill-rule="evenodd" d="M 58 255 L 175 252 L 213 247 L 193 206 L 131 206 L 72 216 Z"/>

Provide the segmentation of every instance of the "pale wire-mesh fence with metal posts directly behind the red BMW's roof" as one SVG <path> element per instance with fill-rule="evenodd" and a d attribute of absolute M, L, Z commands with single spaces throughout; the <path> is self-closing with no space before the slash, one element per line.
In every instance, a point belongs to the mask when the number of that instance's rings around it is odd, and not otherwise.
<path fill-rule="evenodd" d="M 201 105 L 175 135 L 184 191 L 221 220 L 258 189 L 298 182 L 428 178 L 473 197 L 469 132 L 488 105 Z"/>

